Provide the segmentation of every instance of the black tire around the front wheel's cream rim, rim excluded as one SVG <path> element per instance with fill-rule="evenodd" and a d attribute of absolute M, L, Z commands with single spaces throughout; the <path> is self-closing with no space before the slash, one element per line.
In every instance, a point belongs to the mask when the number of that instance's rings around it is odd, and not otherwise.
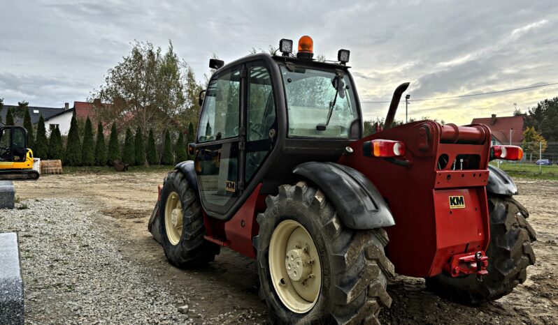
<path fill-rule="evenodd" d="M 183 232 L 176 245 L 169 241 L 165 228 L 165 205 L 171 192 L 178 194 L 183 209 Z M 203 239 L 205 228 L 198 193 L 178 170 L 169 172 L 161 190 L 159 232 L 166 259 L 180 269 L 204 266 L 213 262 L 215 255 L 220 252 L 219 245 Z"/>

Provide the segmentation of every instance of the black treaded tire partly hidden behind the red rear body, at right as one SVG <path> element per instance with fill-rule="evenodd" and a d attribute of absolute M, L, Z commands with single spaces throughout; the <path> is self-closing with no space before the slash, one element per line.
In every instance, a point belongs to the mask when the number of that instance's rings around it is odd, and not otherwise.
<path fill-rule="evenodd" d="M 427 288 L 438 296 L 475 305 L 506 296 L 527 280 L 527 266 L 535 264 L 531 243 L 536 241 L 535 230 L 525 220 L 529 213 L 513 197 L 489 194 L 488 200 L 488 275 L 482 281 L 476 275 L 452 278 L 447 273 L 427 278 Z"/>

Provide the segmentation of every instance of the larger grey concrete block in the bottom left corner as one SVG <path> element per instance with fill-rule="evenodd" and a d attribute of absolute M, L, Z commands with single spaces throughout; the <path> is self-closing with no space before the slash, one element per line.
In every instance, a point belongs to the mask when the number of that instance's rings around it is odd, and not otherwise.
<path fill-rule="evenodd" d="M 24 324 L 23 279 L 17 234 L 0 234 L 0 323 Z"/>

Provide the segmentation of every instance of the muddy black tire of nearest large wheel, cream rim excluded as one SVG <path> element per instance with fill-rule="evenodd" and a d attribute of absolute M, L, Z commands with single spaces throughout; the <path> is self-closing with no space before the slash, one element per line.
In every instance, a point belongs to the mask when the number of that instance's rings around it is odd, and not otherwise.
<path fill-rule="evenodd" d="M 276 324 L 378 324 L 382 307 L 389 308 L 387 278 L 394 266 L 385 257 L 384 229 L 354 230 L 343 226 L 321 190 L 299 182 L 283 185 L 266 199 L 267 209 L 257 217 L 260 298 L 266 301 Z M 314 307 L 299 314 L 280 301 L 269 271 L 269 243 L 276 226 L 295 220 L 308 230 L 322 264 L 322 289 Z"/>

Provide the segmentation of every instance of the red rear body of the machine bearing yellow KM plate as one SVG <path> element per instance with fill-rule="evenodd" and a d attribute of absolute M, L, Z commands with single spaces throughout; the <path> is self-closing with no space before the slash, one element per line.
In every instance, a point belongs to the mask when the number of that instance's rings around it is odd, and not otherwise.
<path fill-rule="evenodd" d="M 364 156 L 363 144 L 371 139 L 405 142 L 403 159 L 410 166 Z M 433 276 L 443 270 L 452 255 L 486 250 L 489 224 L 484 186 L 489 139 L 485 126 L 441 126 L 420 121 L 360 139 L 351 144 L 352 155 L 338 161 L 362 172 L 389 204 L 396 225 L 386 228 L 387 255 L 397 273 Z M 438 168 L 438 158 L 444 154 L 449 161 Z M 457 155 L 473 155 L 475 169 L 452 170 L 454 161 L 457 169 L 460 167 Z M 451 195 L 463 196 L 465 207 L 449 209 Z"/>

